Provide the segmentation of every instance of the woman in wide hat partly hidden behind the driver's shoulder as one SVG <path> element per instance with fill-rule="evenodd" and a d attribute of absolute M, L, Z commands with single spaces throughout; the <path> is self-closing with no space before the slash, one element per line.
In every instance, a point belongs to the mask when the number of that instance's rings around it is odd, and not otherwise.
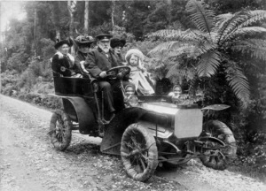
<path fill-rule="evenodd" d="M 78 51 L 74 57 L 74 64 L 80 73 L 88 73 L 84 67 L 84 61 L 88 56 L 88 53 L 92 50 L 91 44 L 94 42 L 94 39 L 89 35 L 79 35 L 75 38 L 74 42 L 76 42 L 78 46 Z"/>

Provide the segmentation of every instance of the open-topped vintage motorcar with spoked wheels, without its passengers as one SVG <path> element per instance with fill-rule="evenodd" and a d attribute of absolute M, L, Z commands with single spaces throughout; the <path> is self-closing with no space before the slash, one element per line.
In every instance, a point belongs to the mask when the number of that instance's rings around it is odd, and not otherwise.
<path fill-rule="evenodd" d="M 107 72 L 115 80 L 130 73 L 127 66 Z M 116 79 L 116 80 L 119 80 Z M 223 110 L 226 105 L 211 105 L 201 110 L 198 104 L 178 104 L 171 95 L 136 95 L 132 87 L 121 87 L 122 97 L 113 95 L 114 118 L 108 118 L 97 80 L 54 76 L 55 96 L 63 109 L 51 117 L 51 142 L 65 150 L 72 130 L 102 137 L 100 150 L 121 156 L 130 178 L 148 180 L 157 166 L 176 167 L 193 157 L 216 170 L 226 168 L 236 155 L 236 141 L 228 126 L 218 120 L 203 124 L 202 110 Z"/>

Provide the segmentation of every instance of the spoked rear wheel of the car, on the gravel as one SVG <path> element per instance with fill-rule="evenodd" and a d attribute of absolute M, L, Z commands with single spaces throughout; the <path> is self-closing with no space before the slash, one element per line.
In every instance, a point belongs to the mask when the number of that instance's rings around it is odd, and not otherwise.
<path fill-rule="evenodd" d="M 72 122 L 62 110 L 55 111 L 51 116 L 51 143 L 56 149 L 64 151 L 71 141 Z"/>

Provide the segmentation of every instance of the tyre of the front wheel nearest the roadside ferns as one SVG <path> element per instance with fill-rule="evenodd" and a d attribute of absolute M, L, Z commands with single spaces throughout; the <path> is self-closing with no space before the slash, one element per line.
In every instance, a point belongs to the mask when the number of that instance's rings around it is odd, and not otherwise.
<path fill-rule="evenodd" d="M 203 131 L 210 133 L 213 137 L 220 139 L 226 145 L 222 149 L 223 158 L 220 157 L 200 157 L 202 164 L 215 170 L 224 170 L 228 161 L 236 157 L 237 145 L 231 129 L 219 120 L 209 120 L 203 126 Z"/>

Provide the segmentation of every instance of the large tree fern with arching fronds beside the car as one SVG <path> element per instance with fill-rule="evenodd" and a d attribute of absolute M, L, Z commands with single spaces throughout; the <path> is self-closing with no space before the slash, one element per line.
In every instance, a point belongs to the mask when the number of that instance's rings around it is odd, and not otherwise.
<path fill-rule="evenodd" d="M 266 41 L 252 39 L 255 34 L 265 33 L 266 28 L 251 26 L 266 19 L 266 11 L 239 11 L 215 17 L 203 1 L 197 0 L 189 0 L 186 11 L 199 30 L 160 30 L 149 34 L 162 40 L 150 54 L 160 54 L 169 78 L 183 76 L 191 80 L 191 89 L 196 81 L 211 77 L 223 65 L 229 86 L 245 103 L 249 99 L 249 84 L 238 63 L 231 61 L 231 53 L 266 60 Z"/>

